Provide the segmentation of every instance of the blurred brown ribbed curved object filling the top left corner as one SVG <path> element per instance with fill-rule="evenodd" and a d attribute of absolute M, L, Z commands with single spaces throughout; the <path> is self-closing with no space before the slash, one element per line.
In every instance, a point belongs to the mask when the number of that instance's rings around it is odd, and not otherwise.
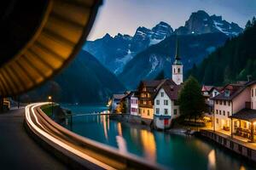
<path fill-rule="evenodd" d="M 24 93 L 61 71 L 84 45 L 101 4 L 101 0 L 1 3 L 1 97 Z"/>

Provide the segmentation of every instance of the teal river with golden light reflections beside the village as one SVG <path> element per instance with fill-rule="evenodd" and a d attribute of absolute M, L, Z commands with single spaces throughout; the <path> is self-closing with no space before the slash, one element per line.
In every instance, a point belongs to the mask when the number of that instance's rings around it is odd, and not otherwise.
<path fill-rule="evenodd" d="M 102 105 L 64 105 L 74 114 L 105 111 Z M 135 154 L 174 170 L 251 170 L 240 156 L 217 144 L 182 134 L 151 132 L 147 127 L 109 120 L 108 116 L 73 117 L 74 133 Z"/>

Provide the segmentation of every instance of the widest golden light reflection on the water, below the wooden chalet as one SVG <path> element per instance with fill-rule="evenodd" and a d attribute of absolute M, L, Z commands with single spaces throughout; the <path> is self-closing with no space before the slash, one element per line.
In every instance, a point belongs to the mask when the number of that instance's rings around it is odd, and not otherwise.
<path fill-rule="evenodd" d="M 154 140 L 154 134 L 142 129 L 141 138 L 146 159 L 149 161 L 156 161 L 156 145 Z"/>

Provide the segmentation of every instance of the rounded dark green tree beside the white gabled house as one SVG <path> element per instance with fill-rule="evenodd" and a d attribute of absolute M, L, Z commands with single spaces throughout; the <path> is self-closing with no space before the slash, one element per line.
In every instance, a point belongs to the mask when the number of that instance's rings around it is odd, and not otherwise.
<path fill-rule="evenodd" d="M 201 94 L 201 86 L 194 77 L 184 82 L 183 88 L 178 95 L 179 109 L 183 116 L 197 117 L 206 111 L 206 104 Z"/>

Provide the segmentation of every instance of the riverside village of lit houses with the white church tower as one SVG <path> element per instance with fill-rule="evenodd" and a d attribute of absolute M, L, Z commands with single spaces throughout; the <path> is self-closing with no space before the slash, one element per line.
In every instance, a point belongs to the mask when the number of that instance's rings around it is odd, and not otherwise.
<path fill-rule="evenodd" d="M 173 128 L 173 124 L 183 115 L 178 103 L 184 84 L 183 63 L 179 56 L 178 42 L 176 46 L 172 78 L 142 81 L 135 91 L 113 94 L 109 101 L 112 113 L 128 115 L 127 122 L 148 125 L 157 130 Z M 206 110 L 198 118 L 189 121 L 186 119 L 183 129 L 190 130 L 194 125 L 195 130 L 208 129 L 243 142 L 254 143 L 256 81 L 249 78 L 224 87 L 202 85 L 201 95 Z"/>

